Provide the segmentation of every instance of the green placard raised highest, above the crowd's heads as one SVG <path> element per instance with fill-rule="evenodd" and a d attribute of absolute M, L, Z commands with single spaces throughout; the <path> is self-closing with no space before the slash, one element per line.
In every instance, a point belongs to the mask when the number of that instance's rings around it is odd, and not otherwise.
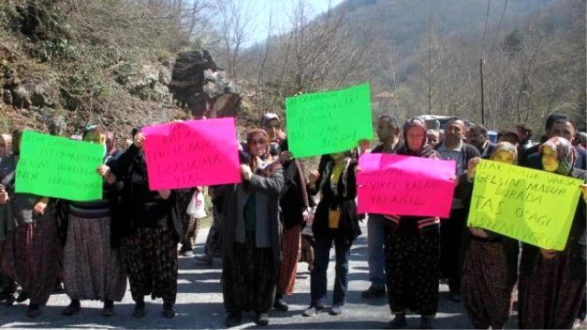
<path fill-rule="evenodd" d="M 294 157 L 337 153 L 373 140 L 369 83 L 285 100 L 289 150 Z"/>

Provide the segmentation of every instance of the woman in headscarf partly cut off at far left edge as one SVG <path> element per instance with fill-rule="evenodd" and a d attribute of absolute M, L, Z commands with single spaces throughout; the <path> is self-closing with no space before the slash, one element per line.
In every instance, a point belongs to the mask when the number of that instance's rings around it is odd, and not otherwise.
<path fill-rule="evenodd" d="M 12 136 L 10 134 L 0 135 L 0 172 L 2 172 L 2 159 L 12 154 Z M 1 191 L 6 197 L 6 191 Z M 9 255 L 14 252 L 12 244 L 16 223 L 12 216 L 11 206 L 6 203 L 0 205 L 0 304 L 12 305 L 16 300 L 16 283 L 7 274 L 14 274 L 14 260 Z M 6 252 L 4 252 L 6 251 Z M 6 257 L 5 257 L 6 255 Z M 6 260 L 6 262 L 3 262 Z M 6 264 L 6 271 L 2 271 L 2 264 Z"/>

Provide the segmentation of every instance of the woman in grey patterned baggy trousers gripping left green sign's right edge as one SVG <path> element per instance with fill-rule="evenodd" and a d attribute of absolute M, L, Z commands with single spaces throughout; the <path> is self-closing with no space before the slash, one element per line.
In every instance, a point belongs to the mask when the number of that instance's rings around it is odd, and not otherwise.
<path fill-rule="evenodd" d="M 87 126 L 83 141 L 102 144 L 106 154 L 106 130 L 102 125 Z M 112 163 L 107 162 L 107 165 Z M 100 171 L 100 168 L 97 169 Z M 96 175 L 99 175 L 97 173 Z M 71 303 L 63 310 L 69 316 L 80 311 L 80 300 L 99 299 L 104 303 L 102 315 L 112 316 L 114 301 L 121 301 L 126 291 L 126 272 L 120 255 L 120 233 L 114 210 L 117 191 L 103 182 L 102 199 L 66 203 L 68 228 L 63 264 L 65 292 Z"/>

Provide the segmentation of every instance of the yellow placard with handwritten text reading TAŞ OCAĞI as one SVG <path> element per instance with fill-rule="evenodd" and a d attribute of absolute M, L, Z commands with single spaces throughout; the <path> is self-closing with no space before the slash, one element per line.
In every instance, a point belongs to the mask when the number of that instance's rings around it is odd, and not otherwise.
<path fill-rule="evenodd" d="M 475 171 L 469 225 L 564 250 L 582 180 L 490 160 Z"/>

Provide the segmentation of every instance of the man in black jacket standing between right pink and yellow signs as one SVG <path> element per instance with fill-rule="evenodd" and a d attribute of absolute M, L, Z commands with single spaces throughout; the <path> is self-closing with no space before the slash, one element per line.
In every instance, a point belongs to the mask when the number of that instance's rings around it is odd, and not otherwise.
<path fill-rule="evenodd" d="M 458 118 L 451 118 L 444 129 L 444 142 L 436 150 L 441 159 L 454 160 L 457 163 L 455 174 L 461 176 L 467 170 L 467 164 L 474 157 L 481 157 L 477 148 L 463 142 L 465 123 Z M 463 260 L 463 237 L 467 237 L 467 207 L 465 201 L 453 198 L 450 217 L 440 225 L 440 270 L 443 277 L 448 278 L 450 299 L 461 301 L 461 260 Z"/>

